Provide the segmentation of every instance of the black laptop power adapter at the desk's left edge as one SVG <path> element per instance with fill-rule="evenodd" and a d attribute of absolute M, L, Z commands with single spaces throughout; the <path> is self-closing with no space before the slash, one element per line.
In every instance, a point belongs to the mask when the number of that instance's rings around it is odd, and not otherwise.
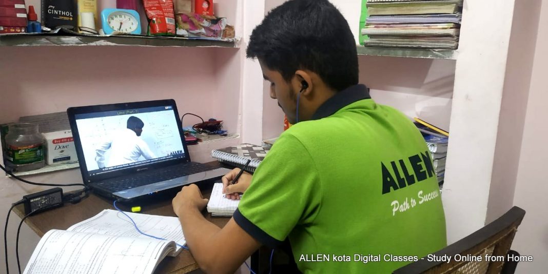
<path fill-rule="evenodd" d="M 43 212 L 63 206 L 63 190 L 60 187 L 23 196 L 25 214 Z"/>

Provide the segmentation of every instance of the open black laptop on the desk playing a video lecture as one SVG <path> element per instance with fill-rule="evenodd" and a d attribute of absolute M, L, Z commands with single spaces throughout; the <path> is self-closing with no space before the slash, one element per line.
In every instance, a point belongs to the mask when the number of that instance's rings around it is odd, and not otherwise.
<path fill-rule="evenodd" d="M 230 169 L 191 162 L 174 100 L 70 107 L 68 120 L 85 185 L 129 202 Z"/>

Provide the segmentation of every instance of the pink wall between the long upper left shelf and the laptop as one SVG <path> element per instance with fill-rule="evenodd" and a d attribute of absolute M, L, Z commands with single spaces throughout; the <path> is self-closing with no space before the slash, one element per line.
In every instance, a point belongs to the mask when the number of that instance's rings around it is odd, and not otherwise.
<path fill-rule="evenodd" d="M 222 94 L 232 91 L 231 97 L 237 98 L 239 81 L 219 87 L 216 73 L 221 61 L 213 60 L 215 51 L 230 59 L 236 50 L 4 47 L 0 93 L 5 100 L 0 100 L 0 123 L 23 115 L 65 111 L 70 106 L 173 98 L 181 114 L 230 118 L 227 127 L 235 131 L 237 109 L 219 112 L 209 104 L 220 89 Z"/>

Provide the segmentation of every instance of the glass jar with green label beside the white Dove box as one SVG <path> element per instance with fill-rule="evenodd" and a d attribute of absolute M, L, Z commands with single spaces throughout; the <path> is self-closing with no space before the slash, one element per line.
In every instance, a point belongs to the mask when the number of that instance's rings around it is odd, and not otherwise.
<path fill-rule="evenodd" d="M 12 172 L 24 172 L 44 166 L 44 139 L 37 124 L 9 126 L 5 135 L 6 165 Z"/>

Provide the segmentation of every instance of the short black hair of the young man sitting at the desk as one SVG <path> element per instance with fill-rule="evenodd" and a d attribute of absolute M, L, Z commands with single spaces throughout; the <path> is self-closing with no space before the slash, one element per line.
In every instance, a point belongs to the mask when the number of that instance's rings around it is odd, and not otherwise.
<path fill-rule="evenodd" d="M 258 58 L 289 82 L 310 70 L 340 91 L 358 84 L 356 41 L 343 14 L 327 0 L 290 0 L 255 27 L 248 58 Z"/>

